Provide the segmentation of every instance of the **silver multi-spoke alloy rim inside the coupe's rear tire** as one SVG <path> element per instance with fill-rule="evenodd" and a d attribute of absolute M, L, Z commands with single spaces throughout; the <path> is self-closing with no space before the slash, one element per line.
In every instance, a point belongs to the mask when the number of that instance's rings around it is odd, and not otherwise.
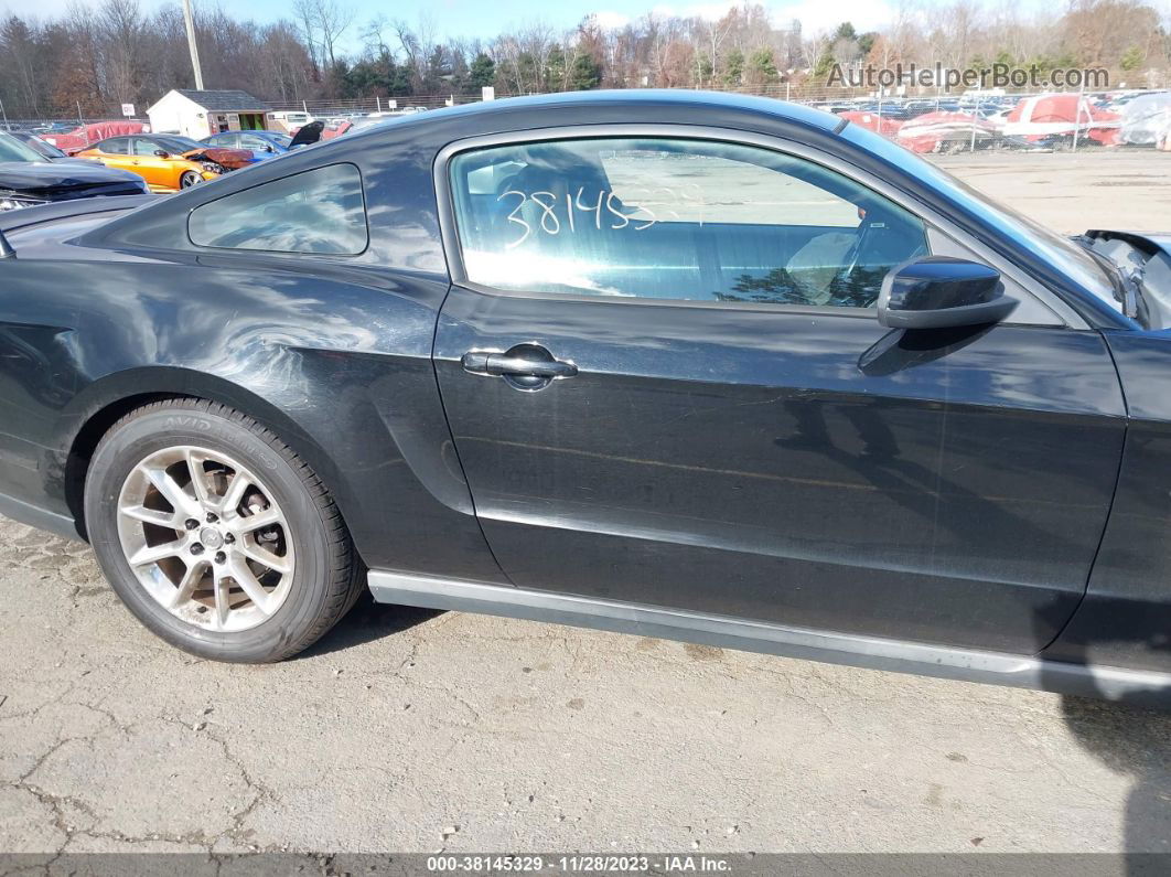
<path fill-rule="evenodd" d="M 178 618 L 241 631 L 288 597 L 294 537 L 272 491 L 221 451 L 169 447 L 135 466 L 118 495 L 126 563 Z"/>

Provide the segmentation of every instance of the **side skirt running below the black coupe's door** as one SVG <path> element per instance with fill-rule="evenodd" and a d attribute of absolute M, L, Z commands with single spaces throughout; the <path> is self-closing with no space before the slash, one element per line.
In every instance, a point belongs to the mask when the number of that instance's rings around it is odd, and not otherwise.
<path fill-rule="evenodd" d="M 527 618 L 870 670 L 1040 688 L 1128 704 L 1171 706 L 1171 673 L 1068 664 L 1033 656 L 787 628 L 386 570 L 371 570 L 369 583 L 379 603 Z"/>

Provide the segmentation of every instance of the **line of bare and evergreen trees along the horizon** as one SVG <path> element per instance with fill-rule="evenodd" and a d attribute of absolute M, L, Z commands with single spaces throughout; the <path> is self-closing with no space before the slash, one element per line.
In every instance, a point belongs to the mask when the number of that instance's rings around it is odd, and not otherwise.
<path fill-rule="evenodd" d="M 345 0 L 294 0 L 289 18 L 260 23 L 197 2 L 206 88 L 239 88 L 273 102 L 500 95 L 594 88 L 824 90 L 835 64 L 949 68 L 1007 63 L 1100 67 L 1111 82 L 1169 84 L 1171 22 L 1143 0 L 1071 0 L 1036 18 L 1009 4 L 905 0 L 882 29 L 850 22 L 810 33 L 742 0 L 718 19 L 648 13 L 589 16 L 559 29 L 534 21 L 491 39 L 441 34 L 432 19 L 358 21 Z M 361 47 L 355 49 L 354 47 Z M 182 8 L 139 0 L 74 4 L 56 18 L 0 21 L 0 101 L 9 118 L 108 116 L 171 88 L 193 88 Z"/>

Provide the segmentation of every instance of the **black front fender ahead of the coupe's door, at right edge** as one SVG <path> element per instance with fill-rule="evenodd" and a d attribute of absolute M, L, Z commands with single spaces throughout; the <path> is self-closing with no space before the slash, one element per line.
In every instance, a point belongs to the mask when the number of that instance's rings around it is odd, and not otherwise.
<path fill-rule="evenodd" d="M 1118 489 L 1081 608 L 1046 652 L 1171 670 L 1171 330 L 1104 333 L 1130 414 Z"/>

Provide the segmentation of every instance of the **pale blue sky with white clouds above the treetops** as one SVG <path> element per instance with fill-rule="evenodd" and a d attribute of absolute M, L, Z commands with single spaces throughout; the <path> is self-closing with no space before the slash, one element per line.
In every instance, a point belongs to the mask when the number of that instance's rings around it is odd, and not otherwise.
<path fill-rule="evenodd" d="M 87 6 L 97 6 L 100 0 L 78 0 Z M 163 0 L 139 0 L 143 9 L 149 11 Z M 207 0 L 204 0 L 205 2 Z M 658 11 L 665 14 L 703 15 L 719 18 L 731 5 L 730 1 L 712 0 L 560 0 L 556 4 L 539 0 L 400 0 L 393 5 L 385 0 L 340 0 L 356 11 L 355 25 L 345 34 L 347 49 L 356 49 L 361 44 L 358 34 L 361 26 L 377 14 L 388 19 L 403 19 L 412 26 L 420 16 L 430 16 L 438 36 L 443 37 L 481 37 L 488 39 L 495 34 L 523 23 L 540 20 L 554 29 L 569 29 L 583 16 L 596 13 L 608 25 L 621 25 L 625 20 L 637 19 L 648 12 Z M 895 4 L 898 0 L 773 0 L 765 2 L 773 20 L 778 25 L 799 18 L 806 32 L 814 34 L 822 29 L 831 29 L 838 22 L 849 20 L 858 30 L 881 27 L 895 15 Z M 943 0 L 940 0 L 941 2 Z M 0 9 L 16 12 L 22 15 L 54 15 L 66 11 L 69 0 L 36 0 L 35 13 L 33 0 L 0 0 Z M 200 0 L 196 0 L 198 5 Z M 920 6 L 930 7 L 931 0 L 923 0 Z M 289 0 L 249 0 L 245 5 L 225 4 L 228 9 L 258 21 L 273 21 L 289 18 L 292 2 Z"/>

